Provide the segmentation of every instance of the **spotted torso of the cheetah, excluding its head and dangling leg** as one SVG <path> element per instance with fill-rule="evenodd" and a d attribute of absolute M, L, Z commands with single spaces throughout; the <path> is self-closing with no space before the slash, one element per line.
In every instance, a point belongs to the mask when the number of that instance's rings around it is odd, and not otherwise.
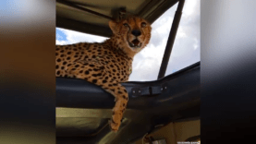
<path fill-rule="evenodd" d="M 88 69 L 81 69 L 79 74 L 68 73 L 70 66 L 83 63 L 82 68 L 89 66 Z M 101 77 L 101 73 L 112 74 L 109 78 L 117 82 L 125 82 L 131 73 L 132 58 L 126 56 L 122 51 L 112 48 L 106 43 L 87 43 L 80 42 L 70 45 L 56 46 L 56 77 L 82 78 L 84 75 L 90 75 L 91 78 Z M 72 70 L 76 70 L 79 64 Z M 97 68 L 100 67 L 100 70 Z M 99 71 L 101 73 L 99 73 Z"/>

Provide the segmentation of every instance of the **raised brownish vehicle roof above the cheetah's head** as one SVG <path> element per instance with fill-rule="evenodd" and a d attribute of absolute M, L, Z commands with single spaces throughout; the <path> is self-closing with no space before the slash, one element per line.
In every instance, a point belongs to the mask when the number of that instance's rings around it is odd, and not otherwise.
<path fill-rule="evenodd" d="M 152 23 L 177 2 L 178 0 L 56 0 L 56 27 L 110 37 L 112 31 L 108 27 L 109 18 L 116 18 L 121 7 L 126 8 L 128 15 L 136 15 Z M 109 18 L 91 14 L 76 6 Z"/>

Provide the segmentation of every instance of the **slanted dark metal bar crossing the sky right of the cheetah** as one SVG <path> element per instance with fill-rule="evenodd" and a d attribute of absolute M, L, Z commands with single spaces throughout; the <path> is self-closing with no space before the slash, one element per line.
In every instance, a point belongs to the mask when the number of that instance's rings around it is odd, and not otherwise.
<path fill-rule="evenodd" d="M 168 65 L 170 55 L 172 53 L 173 45 L 174 45 L 176 34 L 177 34 L 177 28 L 182 15 L 182 9 L 183 9 L 184 3 L 185 3 L 185 0 L 179 0 L 178 2 L 177 11 L 176 11 L 175 18 L 173 20 L 173 25 L 170 30 L 168 41 L 165 47 L 165 54 L 162 60 L 162 65 L 160 67 L 157 79 L 165 77 L 166 67 Z"/>

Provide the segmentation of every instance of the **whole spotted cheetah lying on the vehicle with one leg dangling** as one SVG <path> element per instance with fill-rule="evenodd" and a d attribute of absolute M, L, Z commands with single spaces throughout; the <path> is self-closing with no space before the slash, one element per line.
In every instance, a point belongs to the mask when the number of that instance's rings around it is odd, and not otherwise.
<path fill-rule="evenodd" d="M 104 42 L 79 42 L 55 46 L 55 77 L 79 78 L 102 87 L 115 97 L 111 130 L 117 132 L 128 103 L 128 81 L 133 57 L 151 39 L 151 24 L 131 16 L 109 21 L 113 34 Z"/>

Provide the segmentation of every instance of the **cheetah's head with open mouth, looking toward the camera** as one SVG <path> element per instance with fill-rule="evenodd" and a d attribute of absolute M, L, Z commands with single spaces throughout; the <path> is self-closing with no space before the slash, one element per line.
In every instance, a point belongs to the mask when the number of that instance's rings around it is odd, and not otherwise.
<path fill-rule="evenodd" d="M 110 21 L 109 27 L 116 38 L 116 44 L 132 52 L 140 52 L 151 39 L 151 24 L 139 17 L 128 17 L 119 22 Z"/>

